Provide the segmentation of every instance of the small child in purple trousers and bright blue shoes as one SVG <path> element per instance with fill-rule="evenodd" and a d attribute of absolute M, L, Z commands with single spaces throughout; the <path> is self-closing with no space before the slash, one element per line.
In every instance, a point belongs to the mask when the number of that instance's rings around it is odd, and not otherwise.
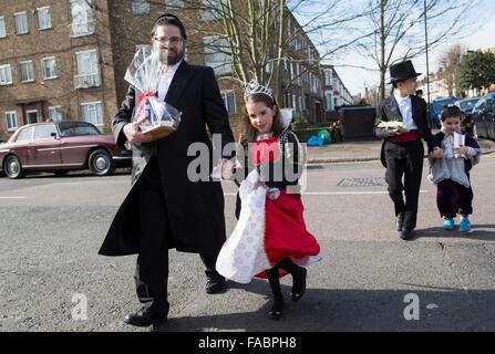
<path fill-rule="evenodd" d="M 460 214 L 460 231 L 470 231 L 468 215 L 473 214 L 470 170 L 479 163 L 482 150 L 468 133 L 463 134 L 464 145 L 454 147 L 454 133 L 462 133 L 461 111 L 457 106 L 445 107 L 441 122 L 442 131 L 435 134 L 435 139 L 443 150 L 443 156 L 429 157 L 432 181 L 436 185 L 436 206 L 444 219 L 444 229 L 454 229 L 454 218 Z"/>

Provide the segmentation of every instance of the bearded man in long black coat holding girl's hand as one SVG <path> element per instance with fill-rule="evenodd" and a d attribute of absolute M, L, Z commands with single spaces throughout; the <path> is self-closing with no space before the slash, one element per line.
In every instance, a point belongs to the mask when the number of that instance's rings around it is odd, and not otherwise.
<path fill-rule="evenodd" d="M 151 142 L 140 131 L 145 118 L 132 123 L 137 97 L 144 93 L 130 86 L 112 129 L 117 145 L 123 146 L 126 140 L 133 144 L 133 184 L 99 252 L 138 254 L 134 278 L 137 298 L 144 306 L 125 319 L 126 323 L 138 326 L 161 323 L 167 317 L 171 248 L 199 253 L 206 267 L 206 291 L 215 293 L 224 289 L 225 279 L 215 270 L 226 240 L 221 186 L 209 178 L 196 181 L 189 178 L 189 164 L 197 156 L 188 149 L 195 143 L 207 147 L 210 173 L 213 146 L 205 124 L 212 134 L 220 134 L 221 148 L 234 143 L 212 67 L 189 65 L 184 60 L 186 31 L 179 19 L 171 14 L 159 17 L 154 23 L 152 43 L 154 48 L 168 50 L 166 73 L 155 95 L 182 112 L 181 124 L 171 135 Z"/>

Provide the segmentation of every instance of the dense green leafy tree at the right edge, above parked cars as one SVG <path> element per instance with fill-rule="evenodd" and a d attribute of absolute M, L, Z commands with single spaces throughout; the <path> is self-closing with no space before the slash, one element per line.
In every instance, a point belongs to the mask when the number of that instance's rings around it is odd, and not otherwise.
<path fill-rule="evenodd" d="M 462 91 L 481 90 L 495 83 L 495 54 L 489 52 L 471 52 L 458 63 L 457 86 Z"/>

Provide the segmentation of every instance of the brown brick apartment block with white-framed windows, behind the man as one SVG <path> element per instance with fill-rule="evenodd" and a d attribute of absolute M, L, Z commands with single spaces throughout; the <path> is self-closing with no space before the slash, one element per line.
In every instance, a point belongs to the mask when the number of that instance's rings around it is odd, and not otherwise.
<path fill-rule="evenodd" d="M 45 119 L 93 123 L 105 134 L 128 84 L 124 74 L 135 51 L 149 43 L 153 21 L 165 11 L 182 18 L 182 1 L 3 0 L 0 9 L 0 138 L 17 127 Z M 178 8 L 177 8 L 178 7 Z M 207 13 L 187 18 L 212 21 Z M 188 28 L 185 21 L 186 30 Z M 289 15 L 287 31 L 299 27 Z M 188 48 L 212 38 L 188 32 Z M 323 119 L 319 53 L 309 38 L 293 35 L 283 63 L 286 87 L 280 106 L 310 123 Z M 243 87 L 231 75 L 228 55 L 190 51 L 187 61 L 215 69 L 237 136 Z M 306 59 L 305 59 L 306 58 Z M 309 59 L 309 61 L 307 61 Z M 267 67 L 267 71 L 271 67 Z"/>

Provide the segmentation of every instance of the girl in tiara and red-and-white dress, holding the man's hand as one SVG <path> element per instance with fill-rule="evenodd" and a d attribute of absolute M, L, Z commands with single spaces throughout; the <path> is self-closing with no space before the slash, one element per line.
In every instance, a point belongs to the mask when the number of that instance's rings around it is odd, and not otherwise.
<path fill-rule="evenodd" d="M 306 229 L 302 217 L 303 206 L 298 180 L 303 170 L 305 150 L 296 134 L 283 126 L 271 91 L 257 82 L 249 85 L 252 90 L 247 90 L 245 94 L 246 135 L 241 140 L 245 158 L 240 163 L 244 166 L 240 170 L 235 169 L 234 176 L 239 179 L 240 175 L 243 179 L 256 168 L 260 176 L 258 185 L 277 188 L 280 192 L 275 198 L 269 192 L 266 197 L 264 251 L 269 266 L 255 275 L 268 279 L 274 293 L 274 304 L 268 314 L 278 320 L 283 310 L 279 278 L 290 273 L 290 298 L 292 301 L 301 299 L 306 291 L 307 270 L 300 266 L 320 260 L 320 246 Z M 239 159 L 239 155 L 237 156 Z M 237 195 L 237 219 L 240 209 L 240 198 Z"/>

